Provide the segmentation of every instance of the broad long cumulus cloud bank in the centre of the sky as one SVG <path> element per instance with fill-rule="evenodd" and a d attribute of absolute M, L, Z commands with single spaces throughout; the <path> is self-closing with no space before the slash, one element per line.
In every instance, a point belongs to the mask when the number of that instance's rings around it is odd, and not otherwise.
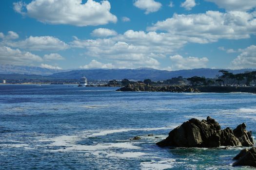
<path fill-rule="evenodd" d="M 85 48 L 87 56 L 127 61 L 128 64 L 130 62 L 140 67 L 143 67 L 143 63 L 155 67 L 159 65 L 156 58 L 164 58 L 166 54 L 171 54 L 186 42 L 185 38 L 181 40 L 164 33 L 129 30 L 111 38 L 75 39 L 71 46 Z"/>

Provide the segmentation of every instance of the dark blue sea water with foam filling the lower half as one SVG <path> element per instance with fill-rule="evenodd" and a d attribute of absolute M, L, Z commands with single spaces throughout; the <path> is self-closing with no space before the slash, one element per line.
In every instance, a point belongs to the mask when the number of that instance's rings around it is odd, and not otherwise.
<path fill-rule="evenodd" d="M 0 85 L 0 169 L 232 170 L 242 148 L 170 150 L 156 142 L 207 116 L 222 128 L 246 122 L 256 136 L 256 95 L 116 89 Z"/>

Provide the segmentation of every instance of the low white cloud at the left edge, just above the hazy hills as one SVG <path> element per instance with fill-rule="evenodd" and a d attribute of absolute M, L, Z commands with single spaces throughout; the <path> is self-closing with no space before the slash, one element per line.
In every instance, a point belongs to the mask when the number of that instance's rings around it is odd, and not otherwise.
<path fill-rule="evenodd" d="M 0 47 L 1 64 L 28 65 L 33 62 L 41 62 L 42 58 L 31 52 L 20 51 L 10 47 Z"/>

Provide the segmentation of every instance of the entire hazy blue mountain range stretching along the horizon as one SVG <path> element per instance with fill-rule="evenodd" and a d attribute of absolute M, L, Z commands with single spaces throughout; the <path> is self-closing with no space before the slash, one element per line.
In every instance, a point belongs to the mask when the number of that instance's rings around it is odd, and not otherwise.
<path fill-rule="evenodd" d="M 158 70 L 152 68 L 137 69 L 81 69 L 81 70 L 55 70 L 39 67 L 28 66 L 10 66 L 0 65 L 0 79 L 79 79 L 82 75 L 88 80 L 144 80 L 151 79 L 154 81 L 171 79 L 172 77 L 182 76 L 184 78 L 192 76 L 200 76 L 206 78 L 215 78 L 220 69 L 196 68 L 184 69 L 177 71 Z M 245 71 L 253 71 L 255 69 L 225 69 L 234 74 L 243 73 Z"/>

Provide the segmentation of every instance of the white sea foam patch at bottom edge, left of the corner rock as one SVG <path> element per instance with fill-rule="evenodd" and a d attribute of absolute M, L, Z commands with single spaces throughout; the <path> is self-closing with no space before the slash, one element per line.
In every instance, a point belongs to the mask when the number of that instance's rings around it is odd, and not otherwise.
<path fill-rule="evenodd" d="M 141 162 L 141 170 L 165 170 L 174 167 L 176 159 L 164 159 L 160 161 Z"/>

